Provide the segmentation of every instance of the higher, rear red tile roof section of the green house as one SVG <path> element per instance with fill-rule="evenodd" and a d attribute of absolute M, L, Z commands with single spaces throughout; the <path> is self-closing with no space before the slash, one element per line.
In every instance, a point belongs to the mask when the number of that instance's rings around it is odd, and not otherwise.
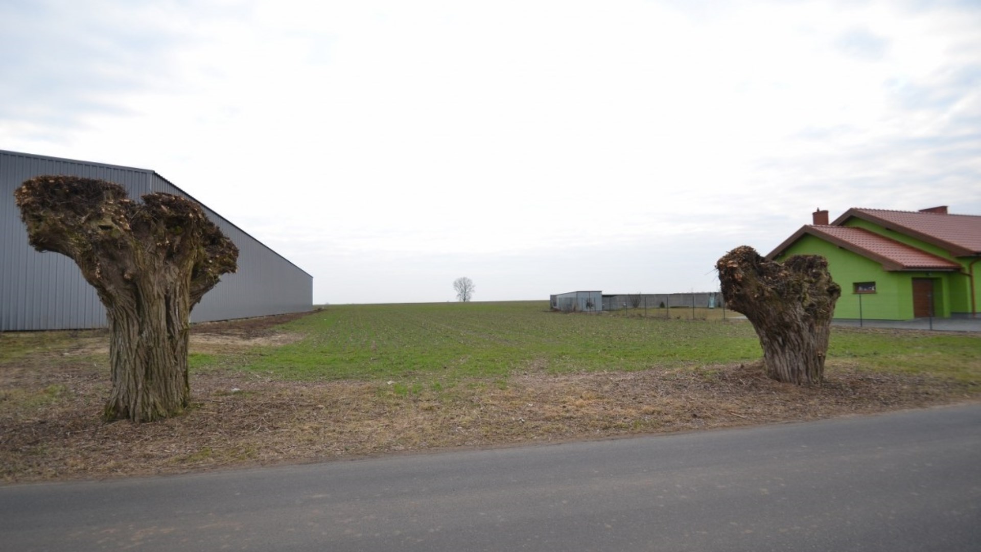
<path fill-rule="evenodd" d="M 831 224 L 841 226 L 852 217 L 945 248 L 953 256 L 981 254 L 981 216 L 978 215 L 853 208 Z"/>

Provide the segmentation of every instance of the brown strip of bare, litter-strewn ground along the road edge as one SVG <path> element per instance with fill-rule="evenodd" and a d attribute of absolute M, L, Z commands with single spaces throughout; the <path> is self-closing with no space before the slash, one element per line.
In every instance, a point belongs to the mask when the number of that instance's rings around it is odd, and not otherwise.
<path fill-rule="evenodd" d="M 298 336 L 272 326 L 289 317 L 196 325 L 191 351 L 233 358 L 255 345 L 288 343 Z M 969 383 L 868 371 L 843 361 L 829 362 L 819 387 L 777 383 L 764 377 L 759 364 L 735 364 L 563 375 L 530 370 L 445 389 L 425 382 L 284 382 L 230 362 L 192 373 L 194 402 L 185 414 L 141 425 L 106 423 L 99 415 L 109 393 L 107 336 L 82 334 L 0 363 L 4 482 L 610 438 L 979 398 Z"/>

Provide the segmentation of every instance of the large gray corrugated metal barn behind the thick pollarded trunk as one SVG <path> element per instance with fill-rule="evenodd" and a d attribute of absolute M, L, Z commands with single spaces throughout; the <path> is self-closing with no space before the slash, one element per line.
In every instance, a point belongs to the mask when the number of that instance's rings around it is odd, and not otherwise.
<path fill-rule="evenodd" d="M 115 182 L 133 199 L 154 192 L 194 198 L 151 170 L 0 150 L 0 331 L 103 327 L 105 309 L 95 289 L 81 277 L 75 261 L 27 245 L 14 191 L 27 179 L 40 175 Z M 207 206 L 202 207 L 238 247 L 238 271 L 222 276 L 191 311 L 191 321 L 311 309 L 313 276 Z"/>

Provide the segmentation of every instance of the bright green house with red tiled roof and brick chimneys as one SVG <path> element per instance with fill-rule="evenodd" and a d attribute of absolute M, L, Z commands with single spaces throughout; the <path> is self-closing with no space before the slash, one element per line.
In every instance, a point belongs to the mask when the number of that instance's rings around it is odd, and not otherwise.
<path fill-rule="evenodd" d="M 842 287 L 835 318 L 908 320 L 976 316 L 981 291 L 981 216 L 849 209 L 828 222 L 818 209 L 766 258 L 794 254 L 828 259 Z"/>

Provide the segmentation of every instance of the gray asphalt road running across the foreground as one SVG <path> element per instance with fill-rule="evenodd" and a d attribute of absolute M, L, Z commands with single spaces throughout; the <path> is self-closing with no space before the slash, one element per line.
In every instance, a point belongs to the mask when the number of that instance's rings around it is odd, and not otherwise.
<path fill-rule="evenodd" d="M 0 487 L 0 550 L 981 550 L 981 405 Z"/>

